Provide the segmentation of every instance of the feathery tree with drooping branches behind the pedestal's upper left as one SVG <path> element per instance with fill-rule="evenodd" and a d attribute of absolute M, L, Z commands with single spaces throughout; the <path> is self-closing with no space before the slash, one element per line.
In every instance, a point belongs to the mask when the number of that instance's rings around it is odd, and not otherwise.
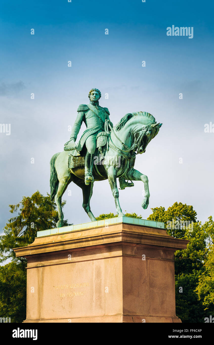
<path fill-rule="evenodd" d="M 62 202 L 62 207 L 66 201 Z M 12 248 L 24 247 L 34 242 L 37 231 L 54 229 L 58 221 L 56 204 L 50 195 L 43 196 L 38 190 L 31 196 L 23 196 L 19 204 L 9 205 L 10 213 L 16 214 L 8 220 L 0 236 L 0 262 L 12 259 L 26 262 L 24 258 L 16 258 Z M 64 226 L 70 225 L 64 221 Z"/>

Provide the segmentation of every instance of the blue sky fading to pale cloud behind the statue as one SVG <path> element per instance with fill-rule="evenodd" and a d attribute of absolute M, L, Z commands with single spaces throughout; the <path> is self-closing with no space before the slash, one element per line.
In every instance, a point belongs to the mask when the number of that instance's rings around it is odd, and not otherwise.
<path fill-rule="evenodd" d="M 149 178 L 150 205 L 141 208 L 143 185 L 136 182 L 121 191 L 122 209 L 147 218 L 150 207 L 181 201 L 199 220 L 213 215 L 214 133 L 204 133 L 204 124 L 214 123 L 212 2 L 1 1 L 0 13 L 0 123 L 11 124 L 10 136 L 0 133 L 0 229 L 8 204 L 49 191 L 49 160 L 63 150 L 92 87 L 114 124 L 140 110 L 163 123 L 136 159 Z M 172 25 L 193 27 L 193 39 L 168 37 Z M 81 190 L 68 189 L 77 209 L 65 193 L 65 218 L 87 222 Z M 94 184 L 91 208 L 95 216 L 115 212 L 108 181 Z"/>

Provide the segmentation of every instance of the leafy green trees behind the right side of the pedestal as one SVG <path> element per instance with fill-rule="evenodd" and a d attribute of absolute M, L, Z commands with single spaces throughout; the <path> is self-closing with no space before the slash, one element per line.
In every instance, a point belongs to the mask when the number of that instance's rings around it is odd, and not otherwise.
<path fill-rule="evenodd" d="M 211 253 L 213 243 L 212 217 L 209 217 L 209 222 L 201 225 L 201 222 L 196 221 L 197 214 L 192 206 L 177 202 L 167 210 L 162 206 L 152 210 L 153 214 L 147 219 L 162 221 L 169 235 L 189 240 L 187 249 L 175 252 L 177 316 L 182 322 L 204 322 L 205 305 L 211 307 L 212 301 L 212 296 L 210 295 L 210 299 L 208 297 L 208 290 L 209 288 L 213 290 L 212 273 L 209 271 L 210 279 L 207 279 L 208 271 L 206 271 L 206 260 L 208 253 Z M 172 222 L 172 219 L 175 222 L 178 221 L 180 226 L 170 229 L 167 225 L 170 221 Z M 193 228 L 190 230 L 184 226 L 184 221 L 193 221 Z"/>

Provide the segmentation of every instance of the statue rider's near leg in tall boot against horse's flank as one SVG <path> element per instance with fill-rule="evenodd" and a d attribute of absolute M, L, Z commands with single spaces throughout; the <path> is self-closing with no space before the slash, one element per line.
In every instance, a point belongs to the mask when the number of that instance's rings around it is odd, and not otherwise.
<path fill-rule="evenodd" d="M 97 134 L 92 134 L 86 139 L 87 153 L 85 157 L 85 184 L 89 185 L 93 181 L 92 168 L 93 168 L 93 158 L 96 149 L 96 138 Z"/>

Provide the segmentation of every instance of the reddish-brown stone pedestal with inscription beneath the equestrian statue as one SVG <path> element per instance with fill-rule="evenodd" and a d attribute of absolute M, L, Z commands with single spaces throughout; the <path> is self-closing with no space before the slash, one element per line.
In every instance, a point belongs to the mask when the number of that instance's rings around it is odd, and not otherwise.
<path fill-rule="evenodd" d="M 47 236 L 14 249 L 27 258 L 24 322 L 181 322 L 174 252 L 188 241 L 121 218 L 69 232 L 47 230 Z"/>

